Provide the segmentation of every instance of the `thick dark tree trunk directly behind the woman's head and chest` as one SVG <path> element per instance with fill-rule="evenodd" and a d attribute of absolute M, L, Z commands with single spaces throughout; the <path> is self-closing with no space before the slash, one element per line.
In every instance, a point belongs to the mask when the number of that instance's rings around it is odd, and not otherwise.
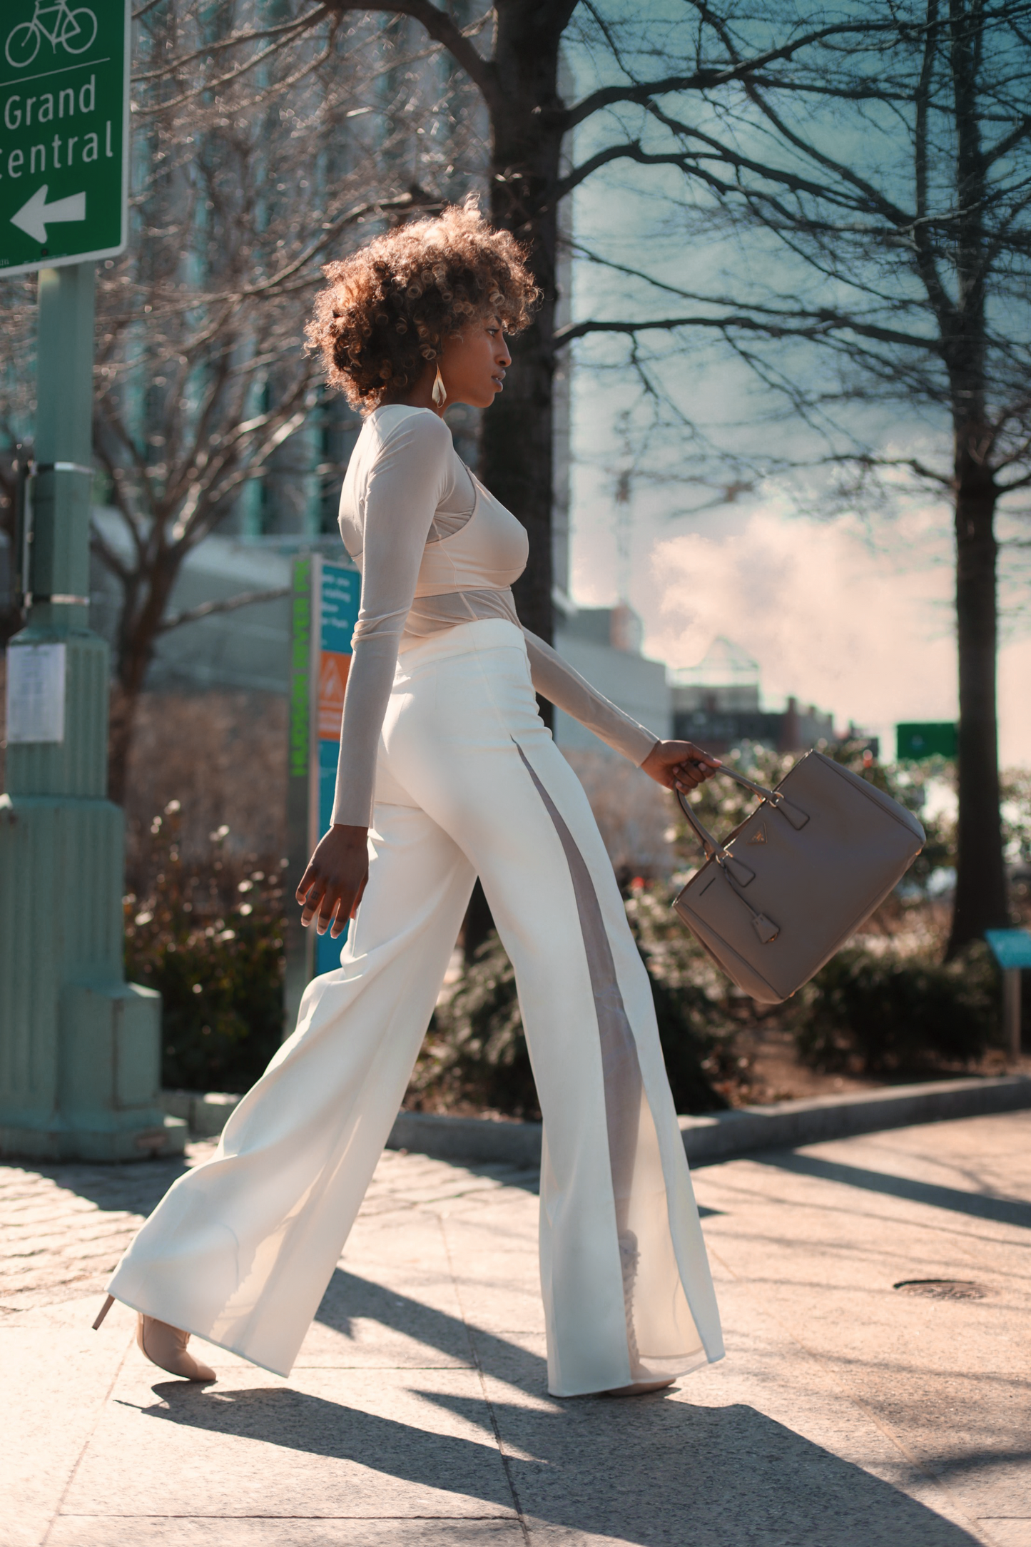
<path fill-rule="evenodd" d="M 505 388 L 484 415 L 481 475 L 526 526 L 530 560 L 516 582 L 519 617 L 552 639 L 552 376 L 563 104 L 558 60 L 572 6 L 499 0 L 492 108 L 490 215 L 527 244 L 543 299 L 512 345 Z"/>

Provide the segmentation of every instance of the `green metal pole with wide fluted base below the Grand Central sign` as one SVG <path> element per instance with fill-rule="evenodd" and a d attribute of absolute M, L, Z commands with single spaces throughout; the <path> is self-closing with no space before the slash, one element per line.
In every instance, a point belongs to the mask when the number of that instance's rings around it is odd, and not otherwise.
<path fill-rule="evenodd" d="M 181 1149 L 159 1106 L 161 999 L 125 982 L 124 820 L 107 798 L 108 650 L 88 628 L 93 263 L 39 274 L 36 467 L 8 647 L 0 797 L 0 1153 Z"/>

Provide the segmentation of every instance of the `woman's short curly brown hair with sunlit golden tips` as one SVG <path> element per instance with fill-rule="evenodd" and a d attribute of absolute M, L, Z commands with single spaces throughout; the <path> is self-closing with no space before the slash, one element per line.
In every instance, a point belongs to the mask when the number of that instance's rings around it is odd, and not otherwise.
<path fill-rule="evenodd" d="M 512 232 L 488 226 L 471 200 L 397 226 L 323 274 L 308 348 L 363 413 L 414 387 L 464 323 L 493 314 L 519 333 L 541 294 Z"/>

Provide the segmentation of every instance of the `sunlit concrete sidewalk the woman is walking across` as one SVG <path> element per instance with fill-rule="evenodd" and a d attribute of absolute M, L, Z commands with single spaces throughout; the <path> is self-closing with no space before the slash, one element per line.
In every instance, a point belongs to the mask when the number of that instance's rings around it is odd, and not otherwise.
<path fill-rule="evenodd" d="M 0 1171 L 0 1547 L 1031 1547 L 1031 1114 L 697 1173 L 728 1358 L 628 1402 L 547 1395 L 535 1174 L 403 1153 L 289 1381 L 165 1378 L 90 1321 L 175 1170 Z"/>

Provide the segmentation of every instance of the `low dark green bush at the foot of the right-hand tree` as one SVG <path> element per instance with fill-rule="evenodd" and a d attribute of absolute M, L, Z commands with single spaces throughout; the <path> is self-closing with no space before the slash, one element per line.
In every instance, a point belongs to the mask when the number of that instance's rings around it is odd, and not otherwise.
<path fill-rule="evenodd" d="M 988 947 L 952 962 L 842 950 L 791 1009 L 799 1057 L 816 1069 L 917 1074 L 982 1057 L 999 1026 Z"/>

